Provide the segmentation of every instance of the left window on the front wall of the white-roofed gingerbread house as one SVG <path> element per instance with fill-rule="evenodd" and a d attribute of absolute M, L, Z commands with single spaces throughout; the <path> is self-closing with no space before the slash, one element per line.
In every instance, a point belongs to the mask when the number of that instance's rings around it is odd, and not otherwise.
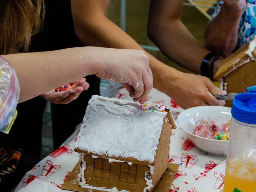
<path fill-rule="evenodd" d="M 108 159 L 94 159 L 94 177 L 110 180 L 110 163 Z"/>

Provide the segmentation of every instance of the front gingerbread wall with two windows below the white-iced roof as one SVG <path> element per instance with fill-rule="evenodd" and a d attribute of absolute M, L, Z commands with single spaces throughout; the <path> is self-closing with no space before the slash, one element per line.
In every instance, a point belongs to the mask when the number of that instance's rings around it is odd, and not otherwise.
<path fill-rule="evenodd" d="M 86 183 L 97 187 L 116 187 L 119 191 L 143 191 L 146 185 L 145 172 L 150 170 L 148 165 L 112 162 L 108 159 L 92 158 L 84 155 Z M 90 179 L 89 179 L 90 178 Z"/>

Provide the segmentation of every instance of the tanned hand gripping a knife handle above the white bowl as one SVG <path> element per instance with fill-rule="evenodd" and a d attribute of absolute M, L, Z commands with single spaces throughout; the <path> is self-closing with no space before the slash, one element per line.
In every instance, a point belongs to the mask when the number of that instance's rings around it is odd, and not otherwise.
<path fill-rule="evenodd" d="M 167 83 L 169 89 L 166 89 L 165 93 L 184 109 L 225 104 L 224 100 L 217 100 L 213 95 L 225 95 L 227 92 L 213 85 L 207 77 L 179 72 L 178 76 Z"/>

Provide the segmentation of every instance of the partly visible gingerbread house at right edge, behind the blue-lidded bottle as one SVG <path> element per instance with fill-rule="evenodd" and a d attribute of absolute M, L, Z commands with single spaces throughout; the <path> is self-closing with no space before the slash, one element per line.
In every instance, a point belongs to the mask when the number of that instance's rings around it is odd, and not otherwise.
<path fill-rule="evenodd" d="M 223 60 L 214 80 L 220 82 L 220 88 L 228 93 L 242 93 L 256 84 L 256 38 Z M 226 101 L 231 107 L 232 101 Z"/>

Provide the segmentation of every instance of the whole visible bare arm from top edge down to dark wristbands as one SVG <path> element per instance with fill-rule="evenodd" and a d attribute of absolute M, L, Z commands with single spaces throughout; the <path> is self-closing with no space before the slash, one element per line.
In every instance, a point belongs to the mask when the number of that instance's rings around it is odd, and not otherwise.
<path fill-rule="evenodd" d="M 183 1 L 151 0 L 148 37 L 169 59 L 200 74 L 202 60 L 210 51 L 181 22 L 182 6 Z"/>

